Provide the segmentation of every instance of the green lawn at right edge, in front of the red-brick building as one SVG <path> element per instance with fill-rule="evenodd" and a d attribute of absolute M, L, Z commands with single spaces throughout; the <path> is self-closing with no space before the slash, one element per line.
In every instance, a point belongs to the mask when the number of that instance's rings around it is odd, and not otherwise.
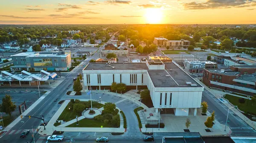
<path fill-rule="evenodd" d="M 238 108 L 243 112 L 252 112 L 256 114 L 256 105 L 252 105 L 251 100 L 248 100 L 248 106 L 247 106 L 247 99 L 245 99 L 245 103 L 239 103 L 239 98 L 236 96 L 232 96 L 230 94 L 226 94 L 225 98 L 229 100 L 230 103 L 232 103 L 234 106 L 238 106 Z"/>

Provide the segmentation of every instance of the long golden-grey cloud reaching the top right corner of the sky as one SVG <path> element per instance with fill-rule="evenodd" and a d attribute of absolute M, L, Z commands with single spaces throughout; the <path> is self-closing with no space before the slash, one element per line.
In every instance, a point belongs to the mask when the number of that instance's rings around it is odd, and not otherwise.
<path fill-rule="evenodd" d="M 255 0 L 207 0 L 205 3 L 182 3 L 184 9 L 228 9 L 256 6 Z"/>

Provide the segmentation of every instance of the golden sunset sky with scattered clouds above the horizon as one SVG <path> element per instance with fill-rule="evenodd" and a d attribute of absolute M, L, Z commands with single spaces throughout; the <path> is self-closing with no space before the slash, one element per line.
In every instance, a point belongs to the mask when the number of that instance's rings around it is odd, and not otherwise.
<path fill-rule="evenodd" d="M 256 0 L 1 0 L 0 24 L 255 24 Z"/>

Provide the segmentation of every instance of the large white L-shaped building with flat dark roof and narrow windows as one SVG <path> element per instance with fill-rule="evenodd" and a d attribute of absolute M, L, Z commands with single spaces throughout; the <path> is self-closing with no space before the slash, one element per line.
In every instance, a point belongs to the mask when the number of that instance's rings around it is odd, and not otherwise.
<path fill-rule="evenodd" d="M 113 82 L 128 89 L 148 89 L 158 113 L 169 110 L 176 116 L 196 115 L 204 87 L 178 65 L 161 60 L 145 63 L 88 63 L 83 69 L 85 89 L 106 90 Z"/>

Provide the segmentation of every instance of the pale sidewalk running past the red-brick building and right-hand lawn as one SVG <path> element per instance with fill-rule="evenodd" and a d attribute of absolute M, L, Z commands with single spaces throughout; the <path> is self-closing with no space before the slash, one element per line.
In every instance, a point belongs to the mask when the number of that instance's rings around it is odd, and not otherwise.
<path fill-rule="evenodd" d="M 198 83 L 200 83 L 202 86 L 204 86 L 205 89 L 207 89 L 207 91 L 209 91 L 211 94 L 213 94 L 216 98 L 218 99 L 221 99 L 224 94 L 230 94 L 230 93 L 227 93 L 227 92 L 222 92 L 222 91 L 219 91 L 219 90 L 215 90 L 215 89 L 210 89 L 209 87 L 205 86 L 204 83 L 202 83 L 200 80 L 198 79 L 195 79 Z M 231 94 L 231 95 L 234 95 L 234 96 L 239 96 L 239 95 L 235 95 L 235 94 Z M 240 96 L 239 96 L 240 97 Z M 224 99 L 224 98 L 222 98 Z M 226 99 L 224 99 L 226 100 Z M 227 100 L 227 103 L 223 103 L 225 106 L 227 106 L 228 108 L 230 107 L 233 107 L 232 104 L 230 104 Z M 244 114 L 242 114 L 239 109 L 235 109 L 235 108 L 232 108 L 230 109 L 231 111 L 233 111 L 238 117 L 240 117 L 242 120 L 244 120 L 245 123 L 247 123 L 249 126 L 251 126 L 253 129 L 256 129 L 256 122 L 250 120 L 249 118 L 247 118 L 246 116 L 244 116 Z"/>

